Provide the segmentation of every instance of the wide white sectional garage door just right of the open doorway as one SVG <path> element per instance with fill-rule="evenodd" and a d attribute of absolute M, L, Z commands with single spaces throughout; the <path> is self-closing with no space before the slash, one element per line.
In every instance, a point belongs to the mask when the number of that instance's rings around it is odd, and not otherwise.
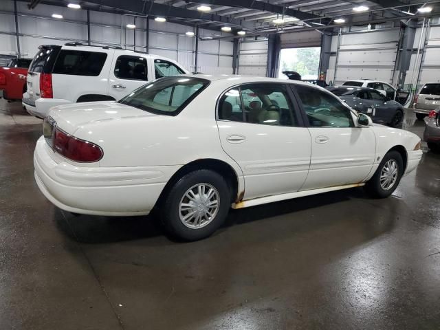
<path fill-rule="evenodd" d="M 399 28 L 342 32 L 333 36 L 327 82 L 372 79 L 393 83 Z"/>

